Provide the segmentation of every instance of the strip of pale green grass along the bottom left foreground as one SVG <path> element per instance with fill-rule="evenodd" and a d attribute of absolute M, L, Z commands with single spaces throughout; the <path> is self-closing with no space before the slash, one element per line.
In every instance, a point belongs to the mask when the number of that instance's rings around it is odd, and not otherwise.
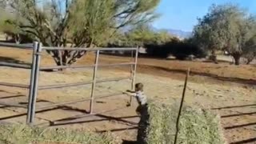
<path fill-rule="evenodd" d="M 95 134 L 85 130 L 39 128 L 24 125 L 0 125 L 0 143 L 86 143 L 112 144 L 110 134 Z"/>

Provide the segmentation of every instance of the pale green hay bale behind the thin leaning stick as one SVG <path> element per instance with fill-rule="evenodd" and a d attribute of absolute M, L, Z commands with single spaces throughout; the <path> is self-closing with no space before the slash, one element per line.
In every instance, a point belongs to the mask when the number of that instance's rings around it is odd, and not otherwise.
<path fill-rule="evenodd" d="M 178 106 L 150 102 L 149 113 L 148 143 L 174 143 Z M 179 127 L 179 144 L 224 143 L 219 118 L 208 110 L 184 106 Z"/>

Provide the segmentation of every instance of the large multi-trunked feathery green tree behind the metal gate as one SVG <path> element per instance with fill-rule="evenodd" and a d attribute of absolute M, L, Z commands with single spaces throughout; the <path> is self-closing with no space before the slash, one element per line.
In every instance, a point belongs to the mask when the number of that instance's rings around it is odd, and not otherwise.
<path fill-rule="evenodd" d="M 120 29 L 151 22 L 160 0 L 2 0 L 21 21 L 9 21 L 43 46 L 71 46 L 48 50 L 56 64 L 71 65 L 86 51 L 76 47 L 102 45 Z"/>

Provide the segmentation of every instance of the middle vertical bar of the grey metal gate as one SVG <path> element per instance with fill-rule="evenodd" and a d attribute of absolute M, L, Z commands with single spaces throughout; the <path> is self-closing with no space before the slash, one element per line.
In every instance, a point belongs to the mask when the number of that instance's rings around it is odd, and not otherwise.
<path fill-rule="evenodd" d="M 92 87 L 91 87 L 91 94 L 90 94 L 90 114 L 93 113 L 93 109 L 94 109 L 94 90 L 95 90 L 96 80 L 97 80 L 99 51 L 100 50 L 97 50 L 97 53 L 96 53 L 96 56 L 95 56 L 93 84 L 92 84 Z"/>

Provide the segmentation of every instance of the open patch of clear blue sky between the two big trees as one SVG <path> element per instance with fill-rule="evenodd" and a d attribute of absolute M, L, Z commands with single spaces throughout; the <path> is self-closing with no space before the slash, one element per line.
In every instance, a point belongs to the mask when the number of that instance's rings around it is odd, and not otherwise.
<path fill-rule="evenodd" d="M 197 18 L 202 18 L 212 4 L 235 3 L 256 14 L 256 0 L 162 0 L 157 12 L 161 14 L 153 26 L 158 29 L 192 31 Z"/>

